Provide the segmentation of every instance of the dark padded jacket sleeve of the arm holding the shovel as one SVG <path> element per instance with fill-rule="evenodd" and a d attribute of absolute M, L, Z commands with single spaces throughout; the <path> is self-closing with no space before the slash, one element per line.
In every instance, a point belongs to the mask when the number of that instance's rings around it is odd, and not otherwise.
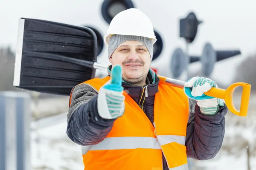
<path fill-rule="evenodd" d="M 220 107 L 215 115 L 203 115 L 198 105 L 190 114 L 186 132 L 187 157 L 198 160 L 214 158 L 221 148 L 225 132 L 227 106 Z"/>

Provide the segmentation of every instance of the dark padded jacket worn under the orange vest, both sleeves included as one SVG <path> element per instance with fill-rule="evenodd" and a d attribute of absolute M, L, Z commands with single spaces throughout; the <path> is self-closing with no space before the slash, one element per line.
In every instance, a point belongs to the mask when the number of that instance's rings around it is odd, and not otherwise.
<path fill-rule="evenodd" d="M 122 82 L 128 95 L 138 105 L 153 124 L 154 94 L 158 92 L 159 78 L 153 71 L 148 72 L 148 97 L 145 97 L 142 86 L 133 86 Z M 145 97 L 145 101 L 140 98 Z M 187 157 L 199 160 L 212 159 L 221 148 L 225 131 L 226 105 L 220 107 L 215 115 L 203 115 L 198 105 L 193 106 L 190 100 L 190 114 L 186 132 Z M 102 119 L 97 111 L 97 92 L 89 85 L 79 85 L 73 89 L 71 105 L 67 115 L 67 136 L 76 144 L 90 145 L 101 142 L 111 131 L 115 119 Z M 167 168 L 163 157 L 164 170 Z"/>

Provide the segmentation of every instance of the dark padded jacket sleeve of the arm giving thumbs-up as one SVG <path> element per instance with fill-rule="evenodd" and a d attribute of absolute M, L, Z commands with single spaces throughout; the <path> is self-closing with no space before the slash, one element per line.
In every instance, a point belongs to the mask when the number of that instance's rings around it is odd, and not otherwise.
<path fill-rule="evenodd" d="M 76 144 L 98 144 L 111 131 L 115 119 L 103 119 L 97 109 L 97 92 L 81 84 L 73 89 L 67 114 L 67 136 Z"/>

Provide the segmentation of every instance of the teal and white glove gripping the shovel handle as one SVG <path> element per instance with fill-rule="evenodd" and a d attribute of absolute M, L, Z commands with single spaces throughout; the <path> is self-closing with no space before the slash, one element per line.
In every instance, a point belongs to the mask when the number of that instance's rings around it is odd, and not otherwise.
<path fill-rule="evenodd" d="M 204 92 L 218 86 L 214 81 L 204 77 L 192 77 L 184 85 L 185 94 L 197 101 L 202 114 L 215 115 L 219 106 L 224 106 L 224 101 L 212 96 L 206 96 Z M 192 88 L 192 89 L 191 89 Z"/>

